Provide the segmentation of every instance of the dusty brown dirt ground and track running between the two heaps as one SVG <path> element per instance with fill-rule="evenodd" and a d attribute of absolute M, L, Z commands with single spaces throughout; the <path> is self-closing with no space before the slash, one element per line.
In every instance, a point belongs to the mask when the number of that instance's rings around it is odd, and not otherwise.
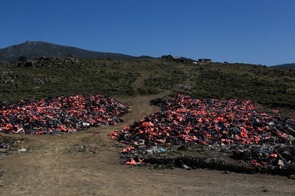
<path fill-rule="evenodd" d="M 295 181 L 283 176 L 203 169 L 151 170 L 120 165 L 122 160 L 118 152 L 123 147 L 116 147 L 118 143 L 110 140 L 107 134 L 158 110 L 148 104 L 156 97 L 159 96 L 120 99 L 128 102 L 132 111 L 124 117 L 124 123 L 116 126 L 60 135 L 1 133 L 11 138 L 28 138 L 20 144 L 28 152 L 0 157 L 0 195 L 295 195 Z"/>

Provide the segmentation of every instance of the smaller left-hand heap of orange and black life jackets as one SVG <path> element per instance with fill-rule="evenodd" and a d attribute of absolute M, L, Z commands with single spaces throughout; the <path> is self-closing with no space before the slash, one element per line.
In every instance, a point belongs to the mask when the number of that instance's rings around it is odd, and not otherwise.
<path fill-rule="evenodd" d="M 85 130 L 121 123 L 129 108 L 117 99 L 100 95 L 21 100 L 0 107 L 0 131 L 44 134 Z"/>

